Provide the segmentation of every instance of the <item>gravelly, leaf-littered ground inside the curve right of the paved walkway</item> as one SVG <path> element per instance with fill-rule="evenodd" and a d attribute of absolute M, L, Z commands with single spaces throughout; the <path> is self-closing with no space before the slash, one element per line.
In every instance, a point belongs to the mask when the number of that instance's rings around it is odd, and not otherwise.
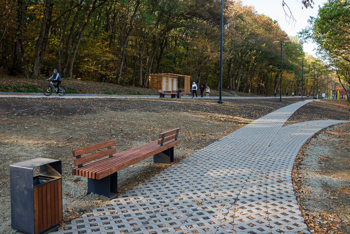
<path fill-rule="evenodd" d="M 331 126 L 300 150 L 293 187 L 314 233 L 350 233 L 350 123 Z"/>

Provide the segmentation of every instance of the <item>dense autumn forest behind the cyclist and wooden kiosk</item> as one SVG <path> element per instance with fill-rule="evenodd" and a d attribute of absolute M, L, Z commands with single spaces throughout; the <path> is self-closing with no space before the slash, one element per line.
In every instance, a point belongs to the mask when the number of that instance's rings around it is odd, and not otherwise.
<path fill-rule="evenodd" d="M 0 0 L 0 69 L 38 77 L 57 68 L 63 78 L 139 87 L 148 86 L 149 74 L 175 73 L 215 89 L 219 25 L 215 0 Z M 328 71 L 299 39 L 232 0 L 224 2 L 223 89 L 278 91 L 281 48 L 274 41 L 281 40 L 291 41 L 283 44 L 282 92 L 301 92 L 299 57 L 303 95 L 312 95 L 313 67 L 325 92 Z"/>

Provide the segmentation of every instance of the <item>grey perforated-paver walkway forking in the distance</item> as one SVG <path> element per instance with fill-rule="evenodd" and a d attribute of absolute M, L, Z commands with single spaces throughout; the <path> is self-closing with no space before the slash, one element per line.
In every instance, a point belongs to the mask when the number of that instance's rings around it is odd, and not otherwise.
<path fill-rule="evenodd" d="M 309 233 L 293 191 L 293 162 L 314 133 L 345 122 L 282 127 L 310 101 L 244 126 L 52 234 Z"/>

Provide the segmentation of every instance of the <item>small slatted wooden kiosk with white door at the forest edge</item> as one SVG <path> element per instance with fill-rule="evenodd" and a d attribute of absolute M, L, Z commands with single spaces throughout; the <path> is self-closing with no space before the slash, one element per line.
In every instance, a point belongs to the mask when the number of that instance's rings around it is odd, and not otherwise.
<path fill-rule="evenodd" d="M 176 91 L 180 78 L 184 78 L 184 91 L 190 92 L 190 76 L 171 73 L 149 75 L 149 88 L 154 90 Z"/>

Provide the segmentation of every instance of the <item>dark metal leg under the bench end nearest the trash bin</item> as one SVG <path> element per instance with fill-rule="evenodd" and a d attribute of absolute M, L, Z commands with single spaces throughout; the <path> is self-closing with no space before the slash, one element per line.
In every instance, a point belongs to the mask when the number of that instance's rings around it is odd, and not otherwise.
<path fill-rule="evenodd" d="M 87 193 L 96 193 L 107 198 L 117 195 L 118 172 L 106 176 L 102 179 L 87 178 Z"/>

